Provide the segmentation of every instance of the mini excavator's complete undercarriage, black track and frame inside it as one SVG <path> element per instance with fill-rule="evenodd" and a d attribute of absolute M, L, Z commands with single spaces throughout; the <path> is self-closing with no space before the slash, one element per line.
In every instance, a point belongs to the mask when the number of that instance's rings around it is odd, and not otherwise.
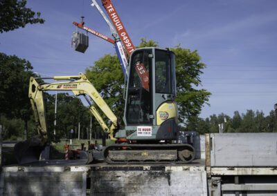
<path fill-rule="evenodd" d="M 190 144 L 114 144 L 103 154 L 109 164 L 187 164 L 195 159 Z"/>

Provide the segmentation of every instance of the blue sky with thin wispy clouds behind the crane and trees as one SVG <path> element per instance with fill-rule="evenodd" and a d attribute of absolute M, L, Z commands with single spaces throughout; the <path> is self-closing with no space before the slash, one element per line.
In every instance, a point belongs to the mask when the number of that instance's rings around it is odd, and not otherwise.
<path fill-rule="evenodd" d="M 200 117 L 224 112 L 262 110 L 277 102 L 277 1 L 175 0 L 112 1 L 134 45 L 146 37 L 161 48 L 198 50 L 207 68 L 202 88 L 212 92 Z M 173 2 L 173 3 L 172 3 Z M 41 12 L 44 24 L 27 25 L 0 35 L 0 52 L 32 63 L 33 71 L 48 75 L 78 75 L 104 54 L 114 55 L 111 43 L 89 36 L 82 54 L 71 48 L 75 26 L 85 25 L 108 37 L 109 28 L 89 0 L 28 0 Z M 101 5 L 100 0 L 98 3 Z M 102 7 L 102 6 L 101 6 Z"/>

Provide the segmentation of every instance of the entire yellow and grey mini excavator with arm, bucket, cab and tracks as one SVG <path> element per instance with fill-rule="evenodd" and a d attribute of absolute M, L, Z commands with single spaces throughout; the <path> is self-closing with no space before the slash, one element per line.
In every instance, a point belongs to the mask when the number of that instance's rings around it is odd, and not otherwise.
<path fill-rule="evenodd" d="M 15 146 L 19 163 L 39 159 L 46 144 L 42 97 L 45 90 L 71 90 L 74 95 L 89 95 L 104 112 L 111 121 L 110 128 L 91 105 L 91 112 L 103 130 L 115 140 L 115 144 L 107 146 L 102 152 L 109 164 L 182 164 L 195 158 L 195 149 L 190 144 L 172 143 L 177 140 L 179 128 L 175 103 L 175 53 L 169 49 L 150 47 L 132 52 L 128 66 L 123 129 L 119 129 L 116 116 L 85 75 L 53 79 L 69 81 L 38 84 L 36 78 L 30 78 L 29 97 L 39 135 Z"/>

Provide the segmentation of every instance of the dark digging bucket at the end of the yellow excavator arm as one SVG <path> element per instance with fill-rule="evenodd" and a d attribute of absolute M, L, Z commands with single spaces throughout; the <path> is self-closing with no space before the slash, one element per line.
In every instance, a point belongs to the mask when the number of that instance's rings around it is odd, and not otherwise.
<path fill-rule="evenodd" d="M 19 164 L 27 164 L 39 161 L 39 157 L 46 146 L 46 141 L 39 137 L 33 137 L 15 144 L 15 157 Z"/>

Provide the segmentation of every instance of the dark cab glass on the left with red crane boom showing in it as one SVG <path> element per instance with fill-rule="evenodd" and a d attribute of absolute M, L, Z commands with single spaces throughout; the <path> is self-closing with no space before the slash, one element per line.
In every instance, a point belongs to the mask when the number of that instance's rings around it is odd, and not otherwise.
<path fill-rule="evenodd" d="M 138 50 L 132 55 L 127 97 L 127 124 L 151 124 L 152 50 Z"/>

